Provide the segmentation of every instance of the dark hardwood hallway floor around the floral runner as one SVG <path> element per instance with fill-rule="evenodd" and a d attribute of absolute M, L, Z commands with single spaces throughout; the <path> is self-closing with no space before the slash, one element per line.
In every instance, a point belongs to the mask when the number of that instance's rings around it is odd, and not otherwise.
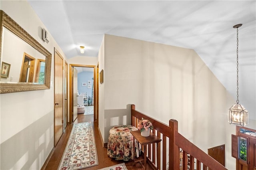
<path fill-rule="evenodd" d="M 83 123 L 83 122 L 92 122 L 92 127 L 94 129 L 94 137 L 96 142 L 96 150 L 98 156 L 98 165 L 92 166 L 89 168 L 84 168 L 83 170 L 98 170 L 104 167 L 113 166 L 116 164 L 120 164 L 122 162 L 125 163 L 128 170 L 142 170 L 142 166 L 140 163 L 134 164 L 133 160 L 130 161 L 123 161 L 123 160 L 114 160 L 113 158 L 109 158 L 107 155 L 107 148 L 103 148 L 100 132 L 98 130 L 97 123 L 93 123 L 93 115 L 84 115 L 78 114 L 78 118 L 74 121 L 74 123 Z M 54 148 L 52 156 L 50 157 L 48 163 L 46 164 L 43 170 L 57 170 L 60 164 L 60 160 L 62 158 L 62 154 L 66 148 L 66 144 L 68 142 L 68 138 L 70 132 L 72 130 L 73 125 L 67 125 L 65 132 L 62 134 L 58 144 Z M 152 169 L 151 167 L 147 166 L 147 169 Z"/>

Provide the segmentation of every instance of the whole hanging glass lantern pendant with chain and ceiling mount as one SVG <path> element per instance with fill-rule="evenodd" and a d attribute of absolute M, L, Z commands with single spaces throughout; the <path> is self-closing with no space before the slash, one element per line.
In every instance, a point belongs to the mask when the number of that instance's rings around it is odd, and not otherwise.
<path fill-rule="evenodd" d="M 229 124 L 240 125 L 242 127 L 249 124 L 248 111 L 243 105 L 239 104 L 238 99 L 238 28 L 242 24 L 237 24 L 233 26 L 236 28 L 236 85 L 237 85 L 237 100 L 236 103 L 228 110 L 228 122 Z"/>

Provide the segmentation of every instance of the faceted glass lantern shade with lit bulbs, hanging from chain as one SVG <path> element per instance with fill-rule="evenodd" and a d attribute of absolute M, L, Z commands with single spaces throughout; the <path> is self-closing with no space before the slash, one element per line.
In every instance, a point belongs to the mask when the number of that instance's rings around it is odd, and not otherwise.
<path fill-rule="evenodd" d="M 228 110 L 228 123 L 242 127 L 249 124 L 248 111 L 243 105 L 236 103 Z"/>

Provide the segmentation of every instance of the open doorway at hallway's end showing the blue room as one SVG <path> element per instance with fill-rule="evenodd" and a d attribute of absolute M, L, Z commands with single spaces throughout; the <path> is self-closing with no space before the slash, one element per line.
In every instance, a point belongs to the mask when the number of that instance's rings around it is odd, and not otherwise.
<path fill-rule="evenodd" d="M 74 83 L 72 83 L 72 70 L 73 68 L 76 68 L 78 71 L 78 80 L 77 80 L 77 90 L 76 87 L 74 86 Z M 91 76 L 87 76 L 86 78 L 86 72 L 88 70 L 91 70 Z M 81 75 L 80 75 L 81 74 Z M 90 75 L 90 74 L 89 74 Z M 84 79 L 80 80 L 79 77 L 84 77 Z M 97 103 L 96 103 L 96 89 L 97 86 L 97 81 L 96 81 L 96 66 L 95 65 L 78 65 L 78 64 L 70 64 L 70 123 L 73 122 L 73 113 L 74 109 L 77 109 L 74 106 L 74 100 L 77 100 L 78 102 L 78 107 L 84 107 L 84 115 L 86 113 L 92 113 L 94 115 L 94 121 L 97 121 L 98 118 L 96 117 L 96 108 L 97 108 Z M 79 99 L 82 96 L 82 101 Z M 75 99 L 77 97 L 77 99 Z M 80 113 L 80 112 L 79 112 Z"/>

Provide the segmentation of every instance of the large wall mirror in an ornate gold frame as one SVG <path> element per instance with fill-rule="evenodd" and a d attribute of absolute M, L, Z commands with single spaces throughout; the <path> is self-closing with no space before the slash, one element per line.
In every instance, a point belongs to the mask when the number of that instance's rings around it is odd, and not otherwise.
<path fill-rule="evenodd" d="M 50 89 L 52 54 L 0 10 L 0 93 Z"/>

